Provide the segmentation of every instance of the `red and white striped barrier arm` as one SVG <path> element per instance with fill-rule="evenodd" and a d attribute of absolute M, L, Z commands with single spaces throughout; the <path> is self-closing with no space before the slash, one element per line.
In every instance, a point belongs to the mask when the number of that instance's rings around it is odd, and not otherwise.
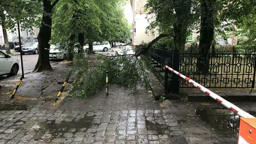
<path fill-rule="evenodd" d="M 196 88 L 198 88 L 199 90 L 202 90 L 204 93 L 208 94 L 210 97 L 212 97 L 214 100 L 216 100 L 217 102 L 221 103 L 222 105 L 226 106 L 226 108 L 232 110 L 234 113 L 238 114 L 239 116 L 243 117 L 243 118 L 255 118 L 254 116 L 248 114 L 247 112 L 245 112 L 244 110 L 238 108 L 237 106 L 235 106 L 234 104 L 228 102 L 227 100 L 225 100 L 224 98 L 218 96 L 217 94 L 215 94 L 214 92 L 208 90 L 207 88 L 205 88 L 204 86 L 198 84 L 197 82 L 195 82 L 194 80 L 184 76 L 183 74 L 180 74 L 179 72 L 177 72 L 176 70 L 170 68 L 169 66 L 164 66 L 165 68 L 169 69 L 170 71 L 174 72 L 175 74 L 177 74 L 178 76 L 180 76 L 181 78 L 183 78 L 184 80 L 188 81 L 190 84 L 193 84 Z"/>

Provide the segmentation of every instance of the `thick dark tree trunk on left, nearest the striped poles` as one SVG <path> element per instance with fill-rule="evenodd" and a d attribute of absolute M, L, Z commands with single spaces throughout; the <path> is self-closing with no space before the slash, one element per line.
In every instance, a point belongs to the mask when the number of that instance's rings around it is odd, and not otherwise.
<path fill-rule="evenodd" d="M 34 68 L 34 72 L 41 72 L 44 70 L 51 70 L 52 66 L 50 65 L 49 60 L 49 50 L 50 44 L 49 41 L 51 39 L 52 34 L 52 6 L 50 0 L 43 0 L 44 13 L 42 16 L 41 26 L 38 33 L 38 61 Z"/>

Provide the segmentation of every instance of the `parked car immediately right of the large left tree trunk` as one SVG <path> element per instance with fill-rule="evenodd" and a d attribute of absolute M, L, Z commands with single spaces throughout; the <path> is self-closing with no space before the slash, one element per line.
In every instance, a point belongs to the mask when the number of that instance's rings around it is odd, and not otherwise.
<path fill-rule="evenodd" d="M 66 60 L 68 55 L 68 50 L 65 49 L 65 45 L 54 46 L 50 45 L 49 58 L 54 60 Z"/>

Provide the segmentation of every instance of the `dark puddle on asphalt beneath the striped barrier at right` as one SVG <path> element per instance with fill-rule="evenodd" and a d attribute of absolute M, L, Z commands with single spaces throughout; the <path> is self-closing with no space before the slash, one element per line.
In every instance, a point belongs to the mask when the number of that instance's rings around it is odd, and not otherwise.
<path fill-rule="evenodd" d="M 249 112 L 255 115 L 256 112 Z M 196 115 L 207 124 L 210 124 L 213 130 L 224 134 L 238 134 L 240 117 L 228 109 L 197 109 Z"/>

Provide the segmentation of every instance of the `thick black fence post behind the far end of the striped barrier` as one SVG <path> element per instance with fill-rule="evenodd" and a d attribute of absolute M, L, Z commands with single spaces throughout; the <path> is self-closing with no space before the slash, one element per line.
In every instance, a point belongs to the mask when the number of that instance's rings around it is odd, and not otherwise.
<path fill-rule="evenodd" d="M 176 71 L 180 71 L 180 52 L 179 50 L 172 50 L 172 68 Z M 180 82 L 179 82 L 179 76 L 172 73 L 172 82 L 171 82 L 171 87 L 170 90 L 174 94 L 179 94 L 179 87 L 180 87 Z"/>

